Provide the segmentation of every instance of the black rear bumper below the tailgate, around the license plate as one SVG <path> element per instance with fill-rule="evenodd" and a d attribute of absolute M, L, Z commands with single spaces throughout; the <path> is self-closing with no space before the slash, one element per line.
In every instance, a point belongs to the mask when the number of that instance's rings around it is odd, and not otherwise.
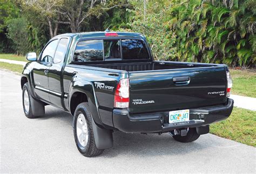
<path fill-rule="evenodd" d="M 113 125 L 125 133 L 164 133 L 174 129 L 194 128 L 227 119 L 234 101 L 227 105 L 190 109 L 190 121 L 169 123 L 169 112 L 130 115 L 127 109 L 113 110 Z"/>

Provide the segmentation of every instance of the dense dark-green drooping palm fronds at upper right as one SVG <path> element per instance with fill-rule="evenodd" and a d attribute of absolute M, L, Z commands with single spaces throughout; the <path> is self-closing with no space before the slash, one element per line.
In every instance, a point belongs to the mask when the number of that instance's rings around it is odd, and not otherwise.
<path fill-rule="evenodd" d="M 184 1 L 169 9 L 181 61 L 254 66 L 255 1 Z"/>

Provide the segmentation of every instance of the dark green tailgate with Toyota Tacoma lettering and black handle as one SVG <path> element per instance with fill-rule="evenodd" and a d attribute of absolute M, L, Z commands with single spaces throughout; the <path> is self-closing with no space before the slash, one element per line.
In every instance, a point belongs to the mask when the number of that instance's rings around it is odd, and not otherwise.
<path fill-rule="evenodd" d="M 225 67 L 130 72 L 130 112 L 151 113 L 223 105 Z"/>

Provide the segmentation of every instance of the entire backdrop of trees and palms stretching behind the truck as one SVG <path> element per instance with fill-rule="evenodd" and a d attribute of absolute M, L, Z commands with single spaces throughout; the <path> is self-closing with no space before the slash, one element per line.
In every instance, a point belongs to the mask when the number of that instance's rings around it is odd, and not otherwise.
<path fill-rule="evenodd" d="M 255 0 L 3 0 L 0 52 L 21 51 L 5 35 L 6 21 L 22 17 L 28 21 L 23 53 L 39 52 L 60 33 L 109 28 L 145 34 L 155 59 L 253 67 L 255 6 Z"/>

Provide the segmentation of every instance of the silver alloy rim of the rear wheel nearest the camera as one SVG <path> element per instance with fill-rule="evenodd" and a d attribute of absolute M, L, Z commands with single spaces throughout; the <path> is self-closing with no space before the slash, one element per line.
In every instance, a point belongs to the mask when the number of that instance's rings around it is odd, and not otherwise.
<path fill-rule="evenodd" d="M 80 145 L 82 145 L 82 147 L 86 147 L 89 138 L 89 133 L 87 121 L 85 119 L 84 114 L 79 114 L 77 116 L 76 133 Z"/>

